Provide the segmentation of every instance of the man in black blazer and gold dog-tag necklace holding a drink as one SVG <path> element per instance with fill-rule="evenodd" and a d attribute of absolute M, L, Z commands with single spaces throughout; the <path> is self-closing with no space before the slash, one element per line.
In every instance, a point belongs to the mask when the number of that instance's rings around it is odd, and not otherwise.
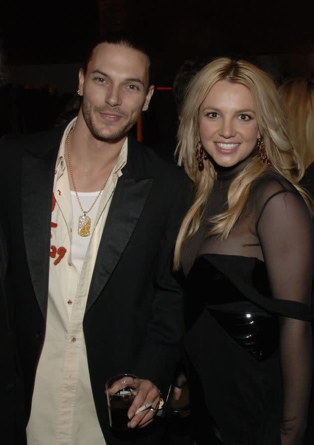
<path fill-rule="evenodd" d="M 182 329 L 172 248 L 190 185 L 130 135 L 153 95 L 149 68 L 136 43 L 107 38 L 79 72 L 77 118 L 1 144 L 28 445 L 161 441 L 153 419 Z M 118 434 L 104 391 L 121 372 L 141 385 Z"/>

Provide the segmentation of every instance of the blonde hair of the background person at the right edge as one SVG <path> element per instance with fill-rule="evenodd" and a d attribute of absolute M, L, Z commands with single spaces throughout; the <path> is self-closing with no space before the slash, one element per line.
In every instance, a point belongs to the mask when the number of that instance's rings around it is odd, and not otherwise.
<path fill-rule="evenodd" d="M 290 79 L 279 88 L 287 116 L 287 130 L 307 168 L 314 161 L 314 83 Z"/>

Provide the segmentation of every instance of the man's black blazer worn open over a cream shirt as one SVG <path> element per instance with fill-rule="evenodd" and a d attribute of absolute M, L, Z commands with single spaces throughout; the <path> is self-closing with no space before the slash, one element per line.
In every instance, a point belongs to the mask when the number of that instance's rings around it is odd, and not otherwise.
<path fill-rule="evenodd" d="M 0 142 L 7 285 L 14 301 L 26 421 L 45 335 L 53 179 L 64 129 L 7 136 Z M 106 380 L 121 372 L 134 373 L 152 380 L 165 397 L 173 377 L 183 323 L 172 253 L 190 203 L 191 184 L 181 169 L 130 136 L 127 164 L 101 237 L 83 320 L 92 391 L 108 445 L 129 441 L 120 442 L 110 431 Z M 143 431 L 139 434 L 145 436 Z M 143 440 L 139 443 L 154 443 Z"/>

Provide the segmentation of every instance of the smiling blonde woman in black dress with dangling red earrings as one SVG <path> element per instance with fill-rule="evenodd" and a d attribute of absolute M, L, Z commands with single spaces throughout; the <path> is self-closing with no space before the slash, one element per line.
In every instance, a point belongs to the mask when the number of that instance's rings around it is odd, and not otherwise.
<path fill-rule="evenodd" d="M 302 444 L 313 208 L 284 122 L 271 78 L 229 58 L 196 74 L 182 109 L 176 154 L 195 196 L 175 268 L 197 445 Z"/>

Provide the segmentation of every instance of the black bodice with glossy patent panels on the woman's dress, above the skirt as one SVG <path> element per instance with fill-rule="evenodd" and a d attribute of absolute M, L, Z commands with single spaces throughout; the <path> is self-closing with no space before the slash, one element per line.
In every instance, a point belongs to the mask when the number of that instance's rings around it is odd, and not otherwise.
<path fill-rule="evenodd" d="M 214 260 L 224 267 L 218 268 Z M 227 269 L 235 270 L 235 262 L 237 266 L 239 262 L 245 263 L 240 268 L 242 275 L 237 270 L 237 280 L 244 284 L 247 292 L 226 275 Z M 265 360 L 278 347 L 278 316 L 252 302 L 246 294 L 251 287 L 264 296 L 270 295 L 263 261 L 231 255 L 200 255 L 190 269 L 186 284 L 187 330 L 206 307 L 225 332 L 256 360 Z"/>

